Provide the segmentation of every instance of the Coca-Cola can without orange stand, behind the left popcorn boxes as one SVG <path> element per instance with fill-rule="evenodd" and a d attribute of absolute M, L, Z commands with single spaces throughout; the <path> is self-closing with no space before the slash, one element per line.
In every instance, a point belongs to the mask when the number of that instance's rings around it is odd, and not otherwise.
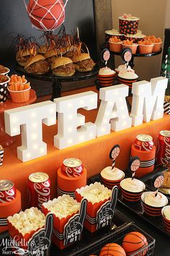
<path fill-rule="evenodd" d="M 45 172 L 30 174 L 27 181 L 30 195 L 29 206 L 41 209 L 42 203 L 50 200 L 50 179 Z"/>

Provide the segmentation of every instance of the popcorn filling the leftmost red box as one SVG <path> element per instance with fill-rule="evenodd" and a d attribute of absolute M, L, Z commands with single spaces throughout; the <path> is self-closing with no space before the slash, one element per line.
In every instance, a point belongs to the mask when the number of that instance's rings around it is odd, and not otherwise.
<path fill-rule="evenodd" d="M 8 221 L 21 233 L 30 233 L 45 226 L 45 215 L 37 208 L 30 208 L 9 216 Z"/>

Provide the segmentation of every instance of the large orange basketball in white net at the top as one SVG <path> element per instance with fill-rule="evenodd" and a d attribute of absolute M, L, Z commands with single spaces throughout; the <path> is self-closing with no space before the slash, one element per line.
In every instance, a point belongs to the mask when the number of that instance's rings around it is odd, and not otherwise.
<path fill-rule="evenodd" d="M 55 30 L 65 19 L 63 0 L 30 0 L 27 12 L 35 27 Z"/>

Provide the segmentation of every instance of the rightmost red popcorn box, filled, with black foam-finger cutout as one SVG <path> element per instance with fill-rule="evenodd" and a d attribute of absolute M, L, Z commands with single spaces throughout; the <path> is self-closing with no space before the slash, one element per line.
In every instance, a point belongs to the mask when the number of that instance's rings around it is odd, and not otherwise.
<path fill-rule="evenodd" d="M 86 229 L 94 232 L 111 224 L 117 203 L 117 193 L 117 186 L 110 190 L 100 182 L 76 189 L 76 200 L 78 202 L 84 198 L 87 200 L 84 221 Z"/>

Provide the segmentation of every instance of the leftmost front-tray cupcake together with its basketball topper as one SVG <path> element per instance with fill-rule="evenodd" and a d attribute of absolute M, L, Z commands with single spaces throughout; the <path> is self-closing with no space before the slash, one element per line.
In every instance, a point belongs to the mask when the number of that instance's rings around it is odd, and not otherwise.
<path fill-rule="evenodd" d="M 109 189 L 112 189 L 115 185 L 120 187 L 120 182 L 125 178 L 125 173 L 115 167 L 115 161 L 119 154 L 120 145 L 115 145 L 109 152 L 109 158 L 112 159 L 112 166 L 107 166 L 100 173 L 104 186 Z"/>

